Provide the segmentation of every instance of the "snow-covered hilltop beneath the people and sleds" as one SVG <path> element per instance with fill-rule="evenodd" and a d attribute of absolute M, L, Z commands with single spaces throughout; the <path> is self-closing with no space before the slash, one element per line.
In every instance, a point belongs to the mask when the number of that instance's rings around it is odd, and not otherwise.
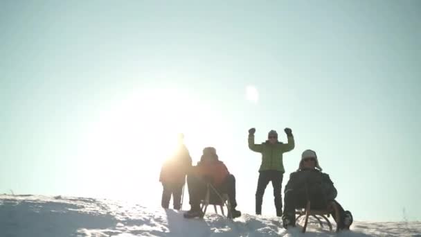
<path fill-rule="evenodd" d="M 215 213 L 185 220 L 182 212 L 91 198 L 0 195 L 0 236 L 301 236 L 278 218 L 244 214 L 234 222 Z M 310 225 L 303 236 L 335 236 Z M 355 222 L 339 236 L 421 236 L 421 222 Z"/>

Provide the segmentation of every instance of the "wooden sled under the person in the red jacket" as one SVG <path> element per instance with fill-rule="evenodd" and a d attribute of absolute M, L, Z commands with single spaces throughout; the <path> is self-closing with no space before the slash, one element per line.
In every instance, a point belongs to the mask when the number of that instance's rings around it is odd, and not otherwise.
<path fill-rule="evenodd" d="M 212 184 L 207 184 L 206 186 L 206 195 L 205 199 L 201 201 L 201 211 L 205 214 L 208 206 L 213 205 L 213 209 L 215 209 L 215 213 L 218 213 L 217 207 L 220 207 L 222 216 L 226 217 L 229 220 L 233 219 L 233 215 L 231 213 L 231 202 L 229 202 L 229 197 L 226 193 L 220 193 L 216 190 L 216 188 Z M 224 207 L 226 207 L 226 215 L 224 211 Z"/>

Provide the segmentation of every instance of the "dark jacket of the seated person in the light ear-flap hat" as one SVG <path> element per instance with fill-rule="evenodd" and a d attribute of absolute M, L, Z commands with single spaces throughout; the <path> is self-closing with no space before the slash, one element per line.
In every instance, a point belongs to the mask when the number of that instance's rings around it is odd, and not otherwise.
<path fill-rule="evenodd" d="M 323 193 L 327 201 L 334 200 L 338 194 L 329 175 L 317 169 L 301 169 L 291 173 L 285 186 L 285 194 L 289 191 L 300 193 L 300 195 Z"/>

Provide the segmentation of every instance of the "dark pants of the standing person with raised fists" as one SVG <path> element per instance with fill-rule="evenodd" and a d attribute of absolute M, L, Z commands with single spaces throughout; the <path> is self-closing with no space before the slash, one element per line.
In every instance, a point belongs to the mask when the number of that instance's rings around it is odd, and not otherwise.
<path fill-rule="evenodd" d="M 276 216 L 282 216 L 282 179 L 283 173 L 277 170 L 260 171 L 258 180 L 258 189 L 256 191 L 256 215 L 262 214 L 262 202 L 265 189 L 269 182 L 274 187 L 274 202 L 276 207 Z"/>

